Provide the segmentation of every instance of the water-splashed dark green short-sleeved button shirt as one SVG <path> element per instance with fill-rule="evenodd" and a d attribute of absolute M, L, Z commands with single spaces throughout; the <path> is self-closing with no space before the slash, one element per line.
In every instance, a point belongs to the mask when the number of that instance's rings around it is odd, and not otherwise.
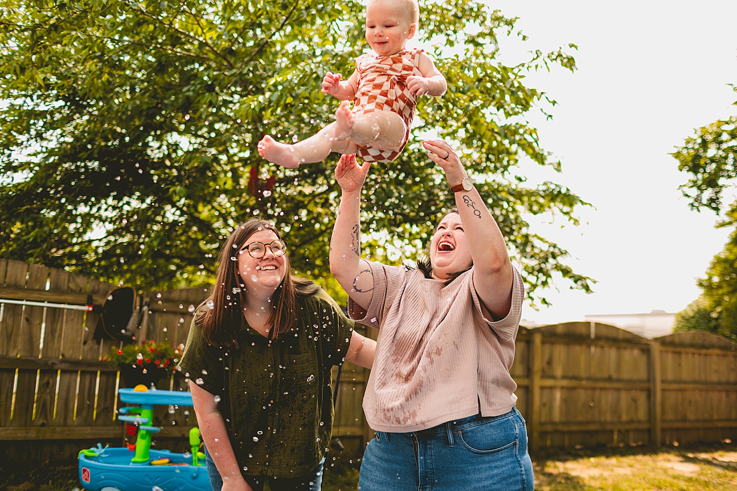
<path fill-rule="evenodd" d="M 332 431 L 333 365 L 353 321 L 323 290 L 298 297 L 298 328 L 269 342 L 238 326 L 237 350 L 208 345 L 192 321 L 179 369 L 220 398 L 231 445 L 248 476 L 297 477 L 322 459 Z M 197 316 L 195 316 L 197 317 Z"/>

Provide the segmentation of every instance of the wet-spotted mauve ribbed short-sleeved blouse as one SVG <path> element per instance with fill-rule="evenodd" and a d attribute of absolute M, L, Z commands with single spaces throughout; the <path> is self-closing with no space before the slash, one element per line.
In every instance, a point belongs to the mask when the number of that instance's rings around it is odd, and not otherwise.
<path fill-rule="evenodd" d="M 509 375 L 524 286 L 514 269 L 509 314 L 494 322 L 475 292 L 473 268 L 449 286 L 418 269 L 370 262 L 374 294 L 365 311 L 349 300 L 352 319 L 379 329 L 363 396 L 375 431 L 432 428 L 481 412 L 511 411 L 517 384 Z"/>

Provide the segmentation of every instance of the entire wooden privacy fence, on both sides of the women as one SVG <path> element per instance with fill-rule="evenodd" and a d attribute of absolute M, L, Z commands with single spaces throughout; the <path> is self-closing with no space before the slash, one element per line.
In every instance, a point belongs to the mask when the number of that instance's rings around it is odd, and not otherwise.
<path fill-rule="evenodd" d="M 102 303 L 113 285 L 0 260 L 0 299 Z M 147 292 L 138 339 L 186 342 L 205 289 Z M 98 314 L 0 300 L 0 457 L 74 459 L 97 442 L 121 445 L 118 371 L 100 361 L 119 342 L 94 339 Z M 362 331 L 376 337 L 377 331 Z M 511 370 L 530 447 L 671 445 L 737 438 L 737 345 L 708 333 L 645 339 L 610 325 L 520 328 Z M 346 364 L 334 434 L 348 451 L 371 438 L 361 410 L 368 370 Z M 186 390 L 179 375 L 159 389 Z M 155 442 L 187 448 L 191 408 L 160 408 Z"/>

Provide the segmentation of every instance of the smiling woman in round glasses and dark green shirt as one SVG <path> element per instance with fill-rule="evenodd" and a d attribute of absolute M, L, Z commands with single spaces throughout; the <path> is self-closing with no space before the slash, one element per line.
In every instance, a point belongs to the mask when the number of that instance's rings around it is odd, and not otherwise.
<path fill-rule="evenodd" d="M 371 367 L 376 343 L 318 285 L 290 271 L 269 222 L 220 250 L 178 369 L 189 379 L 212 489 L 320 490 L 332 430 L 330 370 Z"/>

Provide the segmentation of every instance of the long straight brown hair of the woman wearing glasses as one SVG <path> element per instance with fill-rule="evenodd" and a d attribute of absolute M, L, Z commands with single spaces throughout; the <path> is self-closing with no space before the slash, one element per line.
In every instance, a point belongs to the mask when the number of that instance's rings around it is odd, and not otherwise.
<path fill-rule="evenodd" d="M 282 235 L 270 222 L 262 219 L 249 219 L 242 223 L 228 237 L 220 249 L 219 265 L 215 284 L 203 303 L 198 306 L 195 322 L 202 326 L 203 336 L 213 346 L 238 347 L 237 334 L 244 322 L 245 284 L 238 274 L 237 251 L 259 230 L 271 230 L 279 239 Z M 274 293 L 273 310 L 269 323 L 273 329 L 273 339 L 297 327 L 297 297 L 317 292 L 320 286 L 310 280 L 292 274 L 289 254 L 284 253 L 284 279 Z"/>

